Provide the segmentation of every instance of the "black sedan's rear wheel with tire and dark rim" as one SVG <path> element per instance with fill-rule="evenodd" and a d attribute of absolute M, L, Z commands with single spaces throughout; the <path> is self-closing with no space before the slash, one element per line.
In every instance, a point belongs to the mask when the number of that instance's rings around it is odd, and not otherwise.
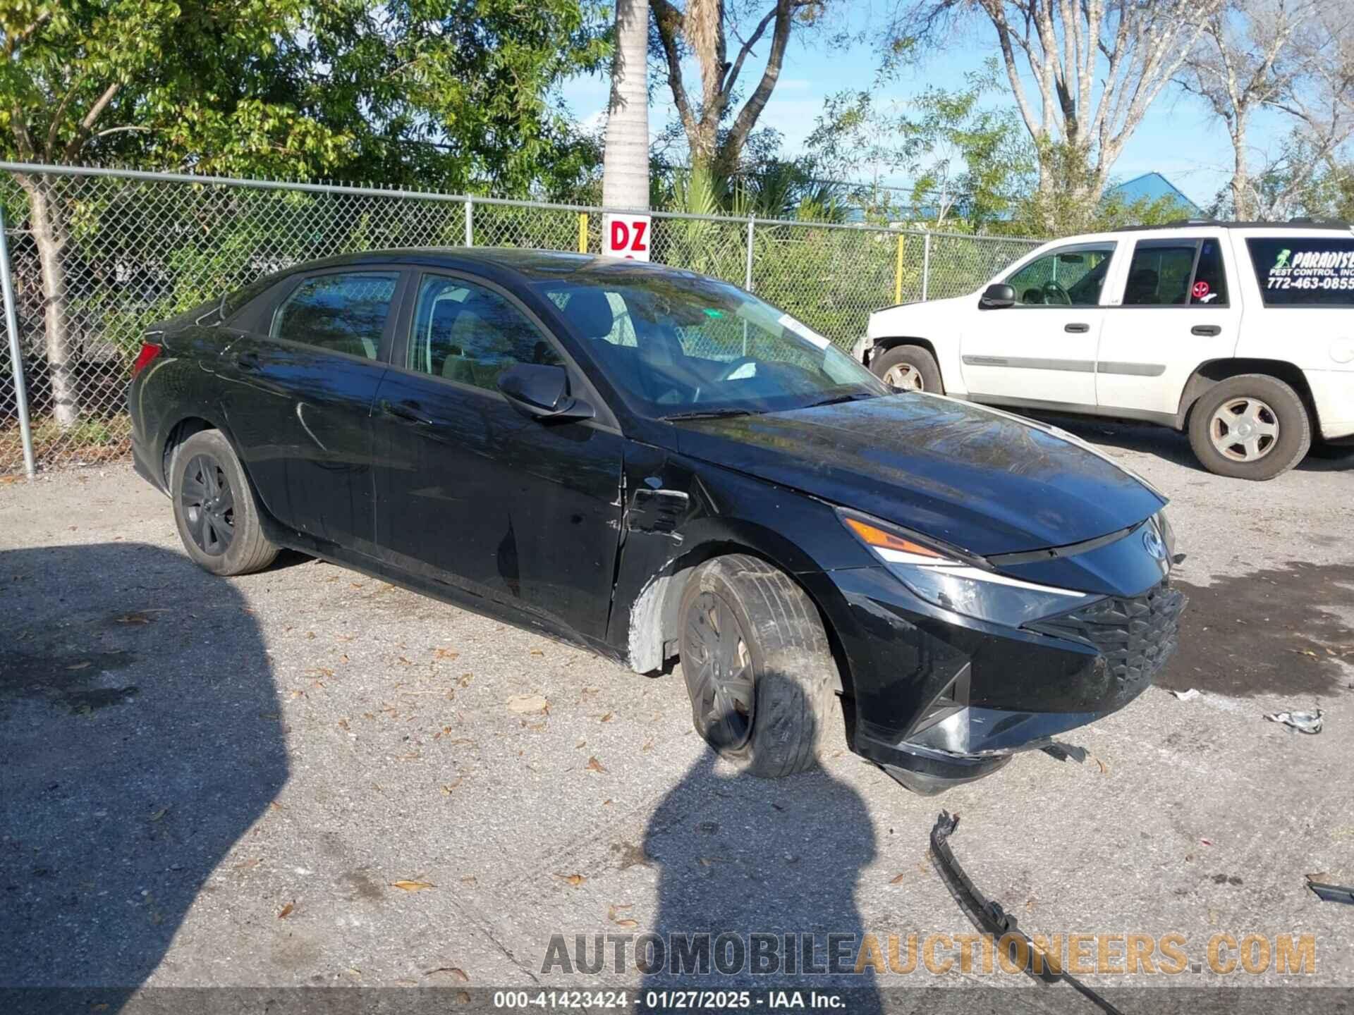
<path fill-rule="evenodd" d="M 198 566 L 219 575 L 260 571 L 278 556 L 259 520 L 259 505 L 230 441 L 200 430 L 173 453 L 169 493 L 183 547 Z"/>

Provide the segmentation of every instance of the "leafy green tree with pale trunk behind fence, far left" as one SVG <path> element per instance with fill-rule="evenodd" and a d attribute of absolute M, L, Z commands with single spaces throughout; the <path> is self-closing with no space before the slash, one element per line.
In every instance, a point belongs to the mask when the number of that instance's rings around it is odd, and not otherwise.
<path fill-rule="evenodd" d="M 19 0 L 0 5 L 0 138 L 26 162 L 192 164 L 229 153 L 253 168 L 325 162 L 347 138 L 278 103 L 295 0 Z M 179 156 L 175 158 L 175 156 Z M 66 313 L 69 208 L 60 185 L 20 173 L 42 269 L 53 414 L 79 417 Z"/>

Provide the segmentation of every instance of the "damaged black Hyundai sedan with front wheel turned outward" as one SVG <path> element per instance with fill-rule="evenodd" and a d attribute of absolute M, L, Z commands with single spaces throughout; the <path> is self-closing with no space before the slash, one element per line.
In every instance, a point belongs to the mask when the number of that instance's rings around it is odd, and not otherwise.
<path fill-rule="evenodd" d="M 133 372 L 135 468 L 202 567 L 290 547 L 680 659 L 757 775 L 811 765 L 839 700 L 857 754 L 938 792 L 1122 708 L 1175 646 L 1164 497 L 691 272 L 336 257 L 156 326 Z"/>

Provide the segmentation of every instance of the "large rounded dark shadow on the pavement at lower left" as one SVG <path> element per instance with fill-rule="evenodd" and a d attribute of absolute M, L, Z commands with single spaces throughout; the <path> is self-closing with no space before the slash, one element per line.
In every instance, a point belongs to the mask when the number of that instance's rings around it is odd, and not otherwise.
<path fill-rule="evenodd" d="M 181 554 L 0 552 L 0 987 L 112 1015 L 287 778 L 263 637 Z"/>

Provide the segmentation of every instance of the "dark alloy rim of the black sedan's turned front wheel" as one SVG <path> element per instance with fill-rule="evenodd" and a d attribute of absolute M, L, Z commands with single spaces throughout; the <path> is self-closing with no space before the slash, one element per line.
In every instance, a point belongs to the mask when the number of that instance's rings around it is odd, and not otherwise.
<path fill-rule="evenodd" d="M 682 660 L 696 731 L 720 751 L 737 751 L 753 734 L 757 692 L 747 639 L 719 595 L 701 591 L 686 609 L 691 659 Z"/>

